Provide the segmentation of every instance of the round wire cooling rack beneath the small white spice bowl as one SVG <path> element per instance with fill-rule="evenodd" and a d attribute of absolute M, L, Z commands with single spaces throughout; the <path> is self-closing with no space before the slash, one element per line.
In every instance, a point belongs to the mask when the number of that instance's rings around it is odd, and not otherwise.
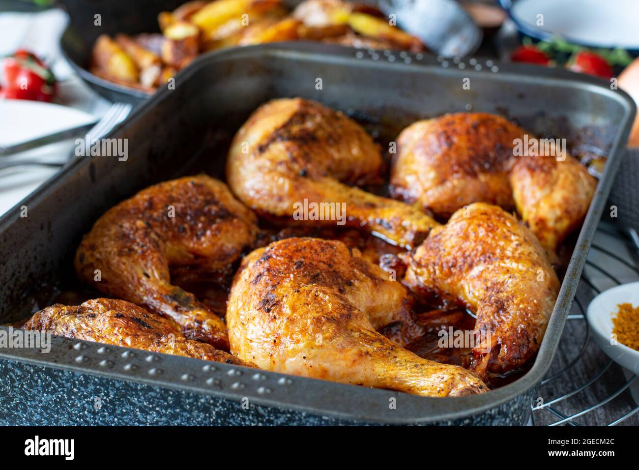
<path fill-rule="evenodd" d="M 532 425 L 639 425 L 639 380 L 592 340 L 585 313 L 603 290 L 639 279 L 639 237 L 601 223 L 550 371 L 532 403 Z"/>

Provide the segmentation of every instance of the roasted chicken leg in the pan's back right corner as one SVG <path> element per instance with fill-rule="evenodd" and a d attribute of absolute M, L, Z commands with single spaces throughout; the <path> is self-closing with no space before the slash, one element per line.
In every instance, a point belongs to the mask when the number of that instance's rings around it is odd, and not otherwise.
<path fill-rule="evenodd" d="M 585 217 L 596 180 L 555 146 L 543 156 L 514 155 L 515 139 L 523 141 L 525 134 L 485 113 L 413 123 L 397 139 L 391 193 L 445 219 L 473 202 L 516 207 L 542 246 L 554 253 Z"/>

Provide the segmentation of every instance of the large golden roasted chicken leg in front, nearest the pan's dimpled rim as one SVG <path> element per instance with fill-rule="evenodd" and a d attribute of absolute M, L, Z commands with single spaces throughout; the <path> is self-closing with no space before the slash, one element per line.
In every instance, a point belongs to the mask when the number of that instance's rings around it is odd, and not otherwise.
<path fill-rule="evenodd" d="M 231 288 L 231 352 L 260 368 L 424 396 L 488 391 L 376 328 L 402 320 L 407 292 L 335 240 L 292 238 L 250 253 Z"/>

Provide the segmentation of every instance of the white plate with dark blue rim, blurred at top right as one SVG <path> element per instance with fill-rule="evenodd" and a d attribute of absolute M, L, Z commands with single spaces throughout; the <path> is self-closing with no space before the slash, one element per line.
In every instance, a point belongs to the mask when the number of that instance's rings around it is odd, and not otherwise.
<path fill-rule="evenodd" d="M 512 1 L 510 14 L 530 29 L 572 43 L 639 49 L 637 0 L 518 0 Z"/>

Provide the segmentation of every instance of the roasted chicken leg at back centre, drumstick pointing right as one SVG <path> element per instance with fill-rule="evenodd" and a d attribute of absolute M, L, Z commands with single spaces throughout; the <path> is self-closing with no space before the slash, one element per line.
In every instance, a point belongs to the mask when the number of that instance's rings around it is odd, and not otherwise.
<path fill-rule="evenodd" d="M 417 246 L 437 225 L 431 217 L 351 187 L 377 182 L 382 167 L 380 149 L 355 121 L 319 103 L 291 98 L 268 102 L 250 116 L 235 136 L 226 175 L 236 196 L 262 215 L 291 219 L 305 200 L 345 203 L 346 226 Z M 339 214 L 334 215 L 296 222 L 335 226 Z"/>

